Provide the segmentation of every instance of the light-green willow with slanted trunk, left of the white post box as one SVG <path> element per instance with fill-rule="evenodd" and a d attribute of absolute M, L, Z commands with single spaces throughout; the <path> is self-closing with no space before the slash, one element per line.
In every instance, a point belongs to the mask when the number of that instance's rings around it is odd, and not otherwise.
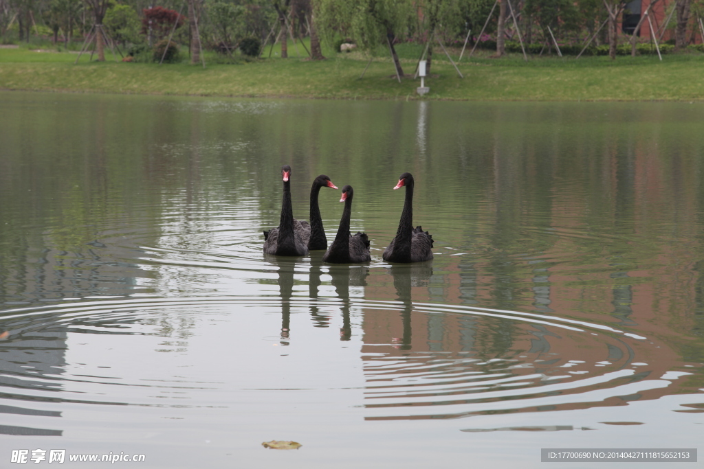
<path fill-rule="evenodd" d="M 394 66 L 403 77 L 401 62 L 394 48 L 396 33 L 406 32 L 411 16 L 415 13 L 411 0 L 319 0 L 315 16 L 318 24 L 332 41 L 338 31 L 351 35 L 358 48 L 374 51 L 384 45 L 391 50 Z"/>

